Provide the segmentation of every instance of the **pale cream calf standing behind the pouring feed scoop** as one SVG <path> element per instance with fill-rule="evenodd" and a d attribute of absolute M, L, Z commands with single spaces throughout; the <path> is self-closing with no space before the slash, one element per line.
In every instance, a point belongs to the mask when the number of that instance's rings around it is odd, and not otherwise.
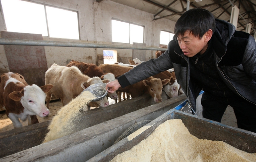
<path fill-rule="evenodd" d="M 109 80 L 101 80 L 99 77 L 90 78 L 76 67 L 52 66 L 45 72 L 45 84 L 52 84 L 53 88 L 46 93 L 46 107 L 49 108 L 49 102 L 52 94 L 60 98 L 62 105 L 68 104 L 73 98 L 76 98 L 81 92 L 95 83 L 108 83 Z M 109 105 L 107 97 L 97 102 L 90 102 L 92 107 L 106 107 Z"/>

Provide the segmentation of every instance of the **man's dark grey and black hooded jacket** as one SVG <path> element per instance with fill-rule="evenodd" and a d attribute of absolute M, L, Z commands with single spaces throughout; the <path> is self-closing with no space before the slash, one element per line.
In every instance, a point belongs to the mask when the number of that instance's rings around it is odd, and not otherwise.
<path fill-rule="evenodd" d="M 235 31 L 235 26 L 216 19 L 216 31 L 212 38 L 214 64 L 221 80 L 236 95 L 256 104 L 256 42 L 246 32 Z M 168 49 L 160 57 L 134 67 L 117 78 L 124 88 L 167 69 L 174 68 L 176 79 L 193 109 L 202 88 L 191 81 L 190 62 L 173 37 Z"/>

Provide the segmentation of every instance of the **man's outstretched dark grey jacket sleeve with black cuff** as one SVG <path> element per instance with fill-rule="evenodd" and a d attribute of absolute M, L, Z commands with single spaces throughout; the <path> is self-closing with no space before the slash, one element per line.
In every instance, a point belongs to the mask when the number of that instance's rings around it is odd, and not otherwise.
<path fill-rule="evenodd" d="M 142 62 L 140 65 L 134 67 L 129 72 L 121 75 L 117 78 L 120 85 L 124 88 L 128 85 L 132 85 L 150 76 L 163 72 L 172 68 L 172 62 L 168 50 L 156 59 L 150 59 L 146 62 Z"/>

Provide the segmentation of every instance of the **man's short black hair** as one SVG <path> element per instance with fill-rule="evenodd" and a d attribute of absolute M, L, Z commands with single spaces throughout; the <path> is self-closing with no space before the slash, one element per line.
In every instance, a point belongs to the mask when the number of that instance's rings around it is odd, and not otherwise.
<path fill-rule="evenodd" d="M 202 8 L 195 8 L 180 16 L 174 27 L 174 34 L 183 36 L 186 31 L 190 31 L 201 39 L 209 29 L 214 33 L 215 28 L 215 18 L 212 13 Z"/>

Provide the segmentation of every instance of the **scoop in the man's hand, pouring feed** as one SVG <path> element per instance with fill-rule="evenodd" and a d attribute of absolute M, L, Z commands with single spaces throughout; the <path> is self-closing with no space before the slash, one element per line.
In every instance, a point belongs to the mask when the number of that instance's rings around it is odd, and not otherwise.
<path fill-rule="evenodd" d="M 92 84 L 83 91 L 90 91 L 92 95 L 96 97 L 95 99 L 91 100 L 92 102 L 100 101 L 108 94 L 108 90 L 106 90 L 106 85 L 106 83 Z"/>

